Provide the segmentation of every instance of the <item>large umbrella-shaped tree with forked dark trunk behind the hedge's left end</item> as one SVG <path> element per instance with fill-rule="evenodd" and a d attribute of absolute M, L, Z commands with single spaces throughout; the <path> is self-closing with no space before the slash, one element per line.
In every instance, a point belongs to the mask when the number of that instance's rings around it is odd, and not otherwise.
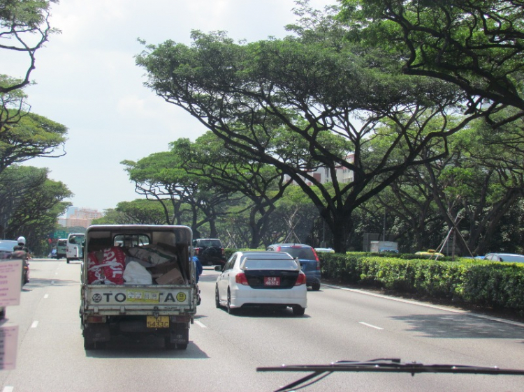
<path fill-rule="evenodd" d="M 147 86 L 195 116 L 228 149 L 274 166 L 300 186 L 333 234 L 335 250 L 343 252 L 353 211 L 407 167 L 439 158 L 421 159 L 420 153 L 476 114 L 449 128 L 447 116 L 464 100 L 455 86 L 402 75 L 397 54 L 347 40 L 336 7 L 300 12 L 284 39 L 235 43 L 223 32 L 193 31 L 191 45 L 147 45 L 136 62 L 147 70 Z M 442 128 L 425 132 L 435 117 Z M 363 153 L 386 119 L 395 123 L 396 137 L 367 165 Z M 325 135 L 342 137 L 343 152 L 324 144 Z M 409 153 L 390 162 L 401 142 Z M 329 184 L 314 176 L 319 167 Z M 352 181 L 337 176 L 344 170 L 353 173 Z M 381 182 L 372 181 L 377 176 Z"/>

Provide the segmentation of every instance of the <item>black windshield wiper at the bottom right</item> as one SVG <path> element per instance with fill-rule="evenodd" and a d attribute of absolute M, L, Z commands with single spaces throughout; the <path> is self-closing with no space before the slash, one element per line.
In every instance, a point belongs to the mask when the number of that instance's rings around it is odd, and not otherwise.
<path fill-rule="evenodd" d="M 519 375 L 524 376 L 524 370 L 501 369 L 486 366 L 471 365 L 424 365 L 419 362 L 402 362 L 398 358 L 379 358 L 370 361 L 337 361 L 328 365 L 282 365 L 279 367 L 256 368 L 257 372 L 312 372 L 291 384 L 277 389 L 275 392 L 293 391 L 310 386 L 333 372 L 395 372 L 410 373 L 456 373 L 475 375 Z"/>

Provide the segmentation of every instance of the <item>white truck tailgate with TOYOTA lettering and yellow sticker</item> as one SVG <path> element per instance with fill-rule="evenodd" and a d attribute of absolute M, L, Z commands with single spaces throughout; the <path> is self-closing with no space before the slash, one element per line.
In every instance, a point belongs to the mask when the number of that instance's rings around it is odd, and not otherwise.
<path fill-rule="evenodd" d="M 143 315 L 144 312 L 194 314 L 194 290 L 194 287 L 187 285 L 86 285 L 85 311 L 100 315 Z"/>

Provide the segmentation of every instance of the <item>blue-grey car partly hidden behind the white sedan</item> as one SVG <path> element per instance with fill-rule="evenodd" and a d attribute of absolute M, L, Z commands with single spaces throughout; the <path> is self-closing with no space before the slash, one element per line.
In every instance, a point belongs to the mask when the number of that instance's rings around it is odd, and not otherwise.
<path fill-rule="evenodd" d="M 303 243 L 274 243 L 267 250 L 287 252 L 298 259 L 306 276 L 306 285 L 315 291 L 320 289 L 320 261 L 314 248 Z"/>

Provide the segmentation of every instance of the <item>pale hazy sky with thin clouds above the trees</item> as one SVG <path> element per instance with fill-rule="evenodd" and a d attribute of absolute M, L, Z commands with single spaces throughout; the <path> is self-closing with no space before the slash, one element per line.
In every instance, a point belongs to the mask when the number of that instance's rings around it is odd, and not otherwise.
<path fill-rule="evenodd" d="M 323 9 L 336 0 L 310 0 Z M 180 137 L 194 141 L 206 129 L 179 107 L 143 86 L 145 70 L 134 56 L 165 40 L 191 44 L 191 31 L 226 31 L 252 42 L 288 34 L 296 21 L 294 0 L 60 0 L 50 24 L 61 33 L 36 52 L 36 69 L 24 89 L 31 112 L 68 128 L 66 155 L 35 158 L 24 165 L 47 167 L 66 184 L 66 201 L 85 209 L 114 209 L 143 198 L 122 160 L 167 151 Z M 26 61 L 27 63 L 27 61 Z M 0 73 L 21 77 L 20 57 L 0 59 Z"/>

